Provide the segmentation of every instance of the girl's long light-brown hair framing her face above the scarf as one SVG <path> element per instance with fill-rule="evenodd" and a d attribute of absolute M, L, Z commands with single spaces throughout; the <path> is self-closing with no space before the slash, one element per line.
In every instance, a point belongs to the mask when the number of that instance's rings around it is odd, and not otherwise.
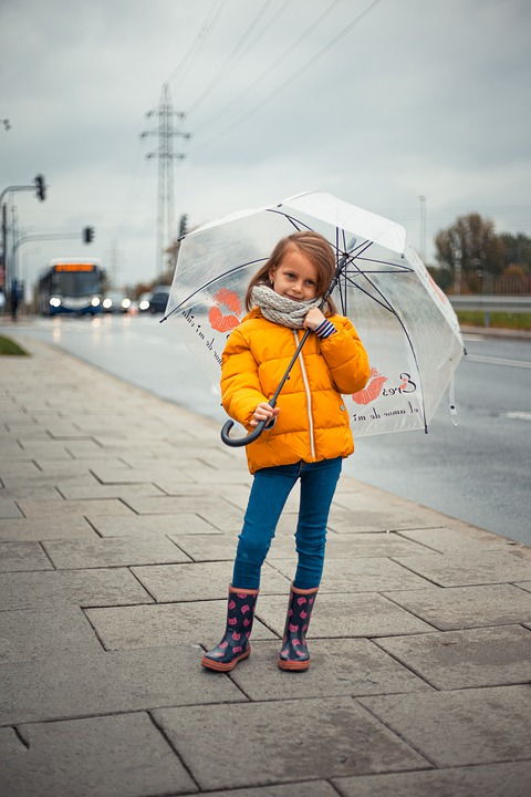
<path fill-rule="evenodd" d="M 282 238 L 277 244 L 273 251 L 271 252 L 269 260 L 263 263 L 263 266 L 257 271 L 254 277 L 249 282 L 249 287 L 246 293 L 247 310 L 251 310 L 251 308 L 253 307 L 251 300 L 251 291 L 254 286 L 270 284 L 270 272 L 277 271 L 278 267 L 282 261 L 282 258 L 284 257 L 288 249 L 290 249 L 291 247 L 295 247 L 301 252 L 303 252 L 303 255 L 305 255 L 309 260 L 311 260 L 311 262 L 315 266 L 317 271 L 317 284 L 315 289 L 315 296 L 324 296 L 335 276 L 334 250 L 330 246 L 326 238 L 323 238 L 323 236 L 319 232 L 293 232 L 292 235 Z M 334 315 L 337 312 L 335 302 L 332 297 L 329 297 L 326 299 L 326 306 L 323 308 L 323 312 L 325 315 Z"/>

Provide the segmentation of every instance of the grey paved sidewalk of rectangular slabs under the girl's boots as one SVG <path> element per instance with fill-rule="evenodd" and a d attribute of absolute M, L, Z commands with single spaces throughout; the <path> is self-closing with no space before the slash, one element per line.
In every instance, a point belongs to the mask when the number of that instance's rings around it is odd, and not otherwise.
<path fill-rule="evenodd" d="M 312 666 L 278 670 L 296 496 L 253 652 L 201 650 L 250 478 L 217 424 L 45 344 L 0 360 L 0 793 L 529 797 L 531 549 L 342 478 Z"/>

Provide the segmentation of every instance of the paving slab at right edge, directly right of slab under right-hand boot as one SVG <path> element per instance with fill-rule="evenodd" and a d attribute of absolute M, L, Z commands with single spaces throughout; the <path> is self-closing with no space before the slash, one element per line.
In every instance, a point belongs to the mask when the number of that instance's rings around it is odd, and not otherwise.
<path fill-rule="evenodd" d="M 531 633 L 520 625 L 395 636 L 377 644 L 440 690 L 531 681 Z"/>

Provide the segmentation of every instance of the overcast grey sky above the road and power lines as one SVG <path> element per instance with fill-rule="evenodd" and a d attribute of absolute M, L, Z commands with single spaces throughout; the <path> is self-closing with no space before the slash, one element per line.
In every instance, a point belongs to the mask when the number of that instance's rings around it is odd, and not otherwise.
<path fill-rule="evenodd" d="M 365 13 L 363 13 L 365 11 Z M 357 21 L 356 21 L 357 20 Z M 179 123 L 175 224 L 309 189 L 405 225 L 423 248 L 478 211 L 531 235 L 530 0 L 0 0 L 0 190 L 28 234 L 95 227 L 123 284 L 156 275 L 157 107 Z M 113 255 L 114 252 L 114 255 Z"/>

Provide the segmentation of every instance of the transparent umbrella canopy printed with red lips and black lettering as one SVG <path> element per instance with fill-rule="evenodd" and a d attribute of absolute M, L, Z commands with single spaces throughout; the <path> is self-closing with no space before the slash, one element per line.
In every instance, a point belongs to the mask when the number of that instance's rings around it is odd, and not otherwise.
<path fill-rule="evenodd" d="M 464 354 L 462 339 L 450 302 L 404 228 L 382 216 L 310 193 L 204 225 L 180 241 L 165 318 L 180 324 L 218 385 L 251 277 L 281 238 L 308 229 L 323 235 L 342 263 L 332 296 L 371 360 L 366 387 L 346 398 L 354 434 L 427 429 Z"/>

